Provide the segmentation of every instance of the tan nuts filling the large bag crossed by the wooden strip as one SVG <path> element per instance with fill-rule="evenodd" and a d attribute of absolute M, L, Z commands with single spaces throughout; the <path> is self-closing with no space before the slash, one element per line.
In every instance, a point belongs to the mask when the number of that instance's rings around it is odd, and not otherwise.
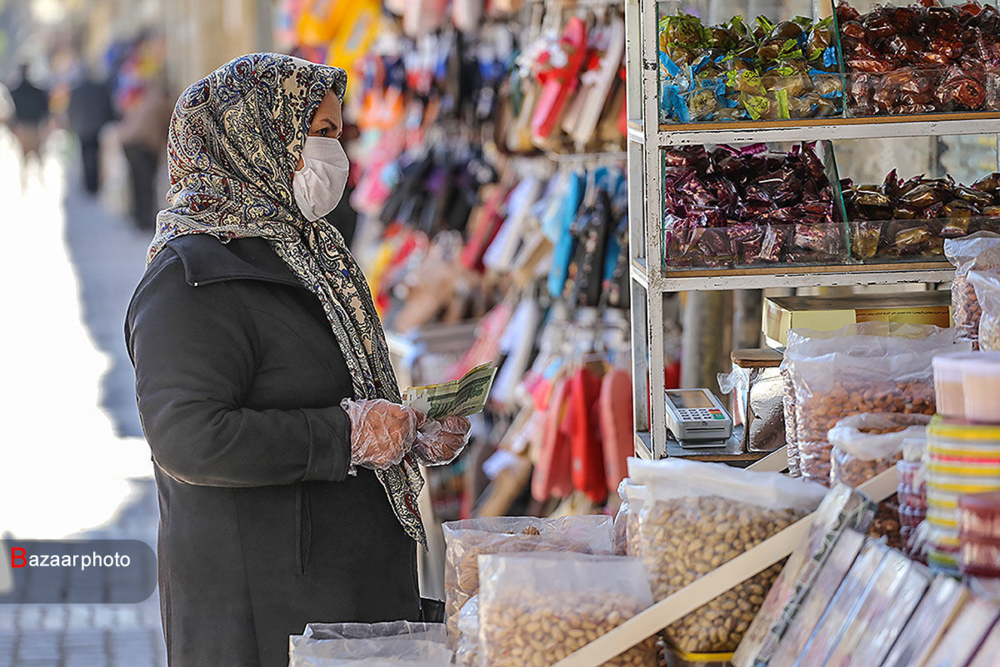
<path fill-rule="evenodd" d="M 807 512 L 765 509 L 717 496 L 657 501 L 642 518 L 642 560 L 662 600 L 784 530 Z M 734 651 L 781 572 L 778 563 L 664 630 L 688 653 Z"/>

